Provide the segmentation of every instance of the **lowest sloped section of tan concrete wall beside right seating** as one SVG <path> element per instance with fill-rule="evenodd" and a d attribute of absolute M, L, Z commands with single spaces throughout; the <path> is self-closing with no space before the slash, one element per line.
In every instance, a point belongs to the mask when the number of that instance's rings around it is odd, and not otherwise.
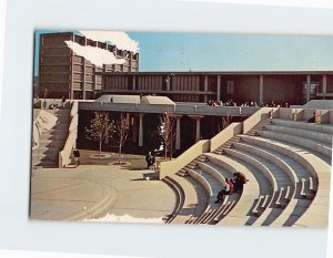
<path fill-rule="evenodd" d="M 159 177 L 163 179 L 165 176 L 174 175 L 176 172 L 182 169 L 195 157 L 210 151 L 210 141 L 202 140 L 196 142 L 192 147 L 188 148 L 178 158 L 170 162 L 161 162 L 159 167 Z"/>

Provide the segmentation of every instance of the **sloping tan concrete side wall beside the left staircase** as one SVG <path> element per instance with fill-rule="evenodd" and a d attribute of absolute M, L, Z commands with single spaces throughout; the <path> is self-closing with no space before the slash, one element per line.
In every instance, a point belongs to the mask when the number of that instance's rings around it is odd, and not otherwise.
<path fill-rule="evenodd" d="M 79 104 L 77 101 L 72 102 L 71 109 L 71 123 L 69 125 L 69 135 L 65 140 L 63 149 L 59 153 L 59 167 L 68 166 L 72 161 L 73 148 L 75 147 L 77 137 L 78 137 L 78 115 Z"/>

